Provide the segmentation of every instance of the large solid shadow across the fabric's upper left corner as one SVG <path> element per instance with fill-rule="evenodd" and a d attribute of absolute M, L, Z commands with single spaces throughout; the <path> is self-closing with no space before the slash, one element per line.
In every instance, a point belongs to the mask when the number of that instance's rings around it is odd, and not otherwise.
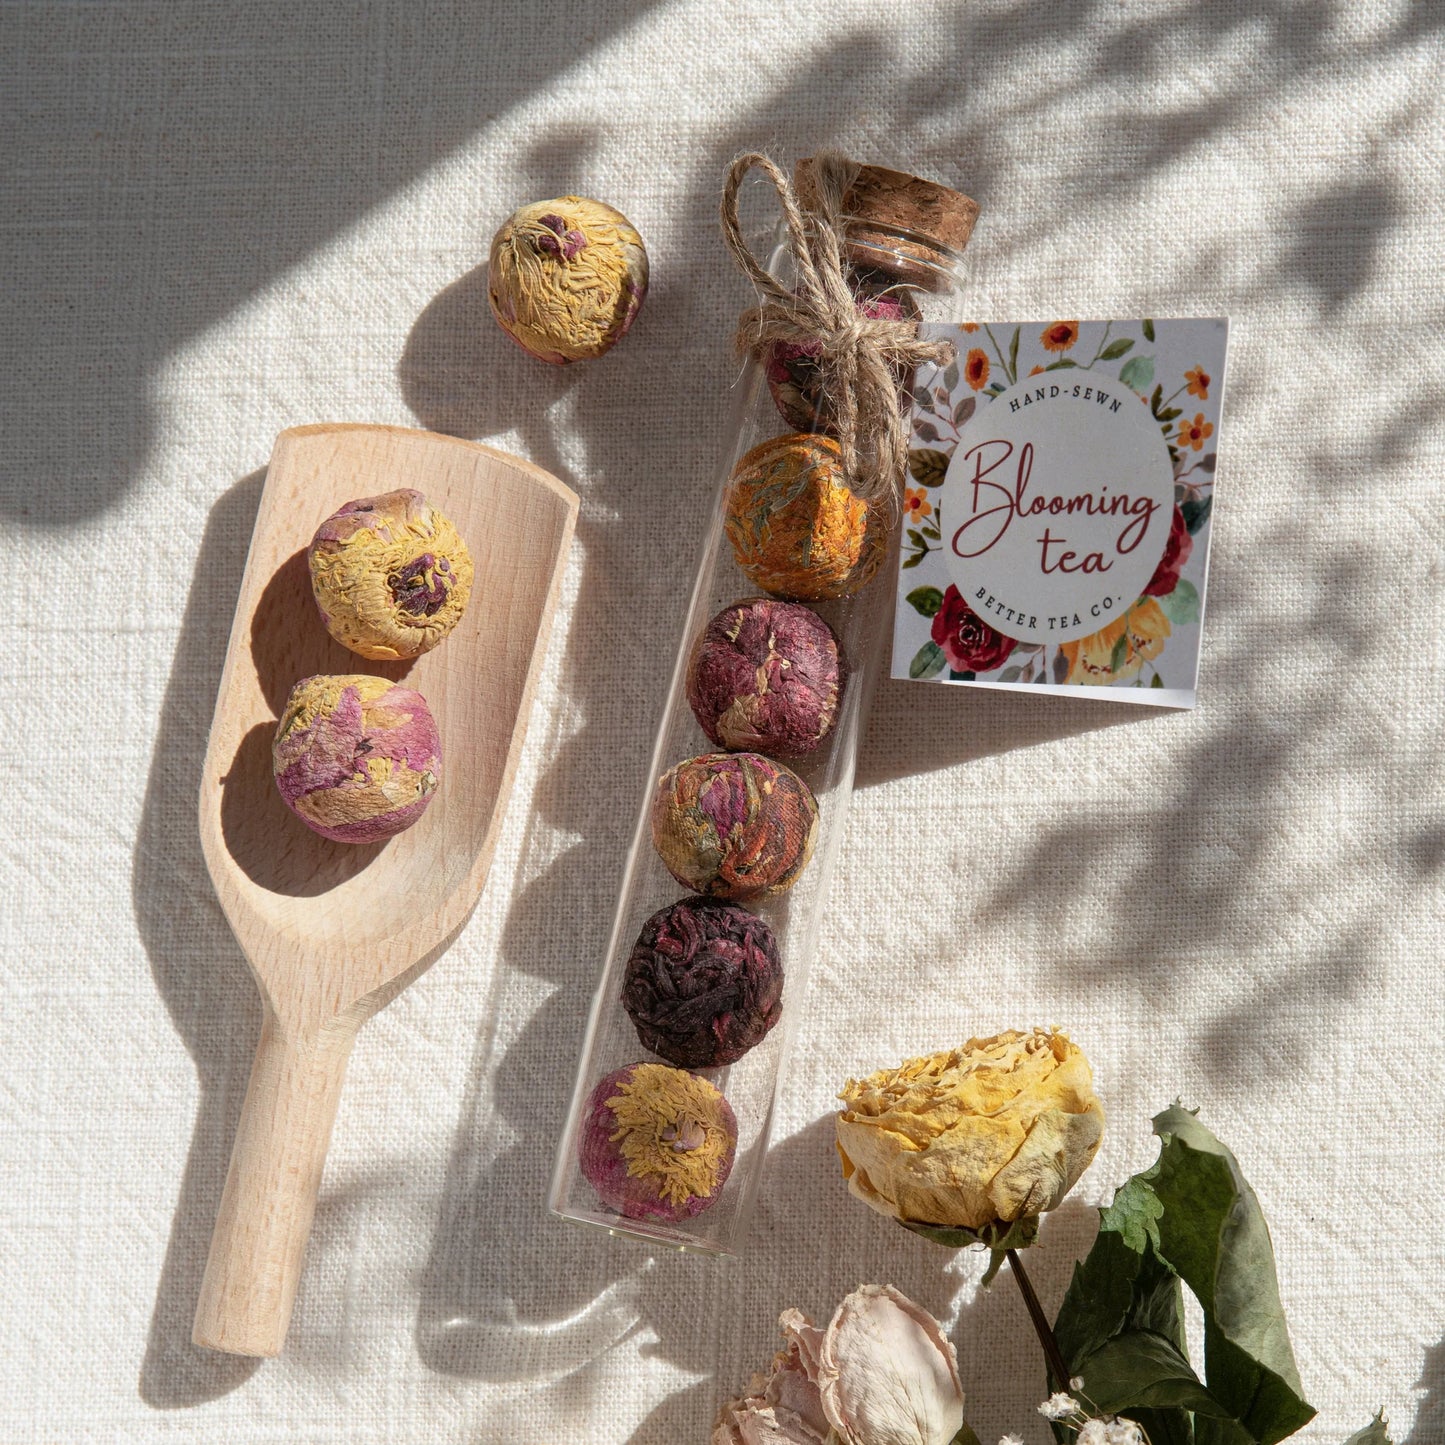
<path fill-rule="evenodd" d="M 655 3 L 504 25 L 464 0 L 12 14 L 0 514 L 61 527 L 113 506 L 172 353 Z"/>

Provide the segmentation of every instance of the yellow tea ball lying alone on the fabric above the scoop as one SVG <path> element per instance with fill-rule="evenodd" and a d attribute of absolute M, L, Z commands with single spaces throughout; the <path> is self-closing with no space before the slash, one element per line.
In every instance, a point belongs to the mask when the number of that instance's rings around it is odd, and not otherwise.
<path fill-rule="evenodd" d="M 513 212 L 491 241 L 487 296 L 513 341 L 565 366 L 610 350 L 647 295 L 647 251 L 621 211 L 584 195 Z"/>

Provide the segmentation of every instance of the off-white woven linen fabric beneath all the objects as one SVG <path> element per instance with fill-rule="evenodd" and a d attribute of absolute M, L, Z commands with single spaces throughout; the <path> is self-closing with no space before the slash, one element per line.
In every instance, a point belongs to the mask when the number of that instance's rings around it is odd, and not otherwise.
<path fill-rule="evenodd" d="M 1052 1309 L 1175 1097 L 1269 1214 L 1299 1436 L 1445 1441 L 1445 10 L 1344 0 L 0 6 L 6 970 L 0 1438 L 702 1441 L 780 1309 L 936 1312 L 983 1441 L 1046 1439 L 1016 1290 L 850 1199 L 847 1075 L 1007 1026 L 1091 1056 Z M 1201 704 L 884 683 L 741 1261 L 549 1218 L 587 997 L 751 296 L 727 162 L 968 191 L 977 318 L 1228 315 Z M 652 293 L 562 370 L 486 253 L 579 191 Z M 753 212 L 762 225 L 759 195 Z M 316 420 L 582 497 L 470 926 L 350 1066 L 285 1354 L 189 1344 L 259 1029 L 195 798 L 262 470 Z"/>

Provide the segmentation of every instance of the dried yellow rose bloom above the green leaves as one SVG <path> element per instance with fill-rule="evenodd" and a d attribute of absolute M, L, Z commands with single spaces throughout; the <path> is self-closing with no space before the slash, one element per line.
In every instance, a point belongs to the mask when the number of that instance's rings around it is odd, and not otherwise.
<path fill-rule="evenodd" d="M 990 1231 L 1039 1215 L 1104 1136 L 1088 1059 L 1053 1029 L 970 1039 L 838 1097 L 848 1188 L 903 1224 Z"/>

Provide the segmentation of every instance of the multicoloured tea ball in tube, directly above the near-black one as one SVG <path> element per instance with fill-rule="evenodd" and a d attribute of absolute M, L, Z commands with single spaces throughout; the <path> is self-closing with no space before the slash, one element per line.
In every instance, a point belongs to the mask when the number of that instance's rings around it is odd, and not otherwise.
<path fill-rule="evenodd" d="M 704 753 L 662 775 L 650 821 L 653 847 L 683 887 L 747 899 L 793 886 L 812 857 L 818 801 L 760 753 Z"/>

